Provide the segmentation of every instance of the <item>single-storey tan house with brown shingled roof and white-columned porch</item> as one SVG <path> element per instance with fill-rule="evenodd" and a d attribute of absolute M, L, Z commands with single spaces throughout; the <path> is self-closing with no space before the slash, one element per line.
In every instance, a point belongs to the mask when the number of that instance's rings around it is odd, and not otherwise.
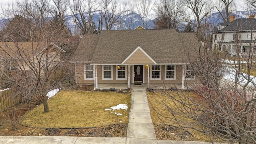
<path fill-rule="evenodd" d="M 103 30 L 86 34 L 72 63 L 77 84 L 184 85 L 195 80 L 189 56 L 198 48 L 194 33 L 164 30 Z"/>

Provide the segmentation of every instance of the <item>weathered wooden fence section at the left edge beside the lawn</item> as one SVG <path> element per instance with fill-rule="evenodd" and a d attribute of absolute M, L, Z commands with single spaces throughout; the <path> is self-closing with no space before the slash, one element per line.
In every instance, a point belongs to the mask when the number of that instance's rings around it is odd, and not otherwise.
<path fill-rule="evenodd" d="M 17 97 L 12 97 L 10 90 L 4 90 L 0 92 L 0 112 L 7 110 L 12 105 L 17 104 L 19 99 Z"/>

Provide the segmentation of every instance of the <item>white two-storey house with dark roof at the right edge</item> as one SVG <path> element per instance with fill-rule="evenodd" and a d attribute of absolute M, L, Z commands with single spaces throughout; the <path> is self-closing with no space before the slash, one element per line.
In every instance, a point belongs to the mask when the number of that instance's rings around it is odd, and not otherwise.
<path fill-rule="evenodd" d="M 219 23 L 212 32 L 212 48 L 214 50 L 227 52 L 230 56 L 238 52 L 248 54 L 256 52 L 256 19 L 254 15 L 250 18 L 238 18 L 231 16 L 230 23 Z"/>

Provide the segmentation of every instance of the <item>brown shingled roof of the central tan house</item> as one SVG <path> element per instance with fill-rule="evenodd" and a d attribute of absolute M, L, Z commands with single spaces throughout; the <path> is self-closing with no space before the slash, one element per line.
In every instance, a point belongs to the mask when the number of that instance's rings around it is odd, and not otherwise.
<path fill-rule="evenodd" d="M 157 64 L 181 64 L 198 47 L 198 41 L 194 33 L 177 33 L 174 29 L 103 30 L 101 34 L 84 35 L 75 61 L 122 64 L 138 46 Z"/>

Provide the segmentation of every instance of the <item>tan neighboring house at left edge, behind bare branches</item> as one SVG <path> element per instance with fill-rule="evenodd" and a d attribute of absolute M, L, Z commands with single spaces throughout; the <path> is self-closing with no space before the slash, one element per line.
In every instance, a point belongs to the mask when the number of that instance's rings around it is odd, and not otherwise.
<path fill-rule="evenodd" d="M 0 42 L 0 69 L 36 70 L 45 64 L 50 68 L 60 62 L 63 52 L 54 43 L 46 46 L 43 42 Z"/>

